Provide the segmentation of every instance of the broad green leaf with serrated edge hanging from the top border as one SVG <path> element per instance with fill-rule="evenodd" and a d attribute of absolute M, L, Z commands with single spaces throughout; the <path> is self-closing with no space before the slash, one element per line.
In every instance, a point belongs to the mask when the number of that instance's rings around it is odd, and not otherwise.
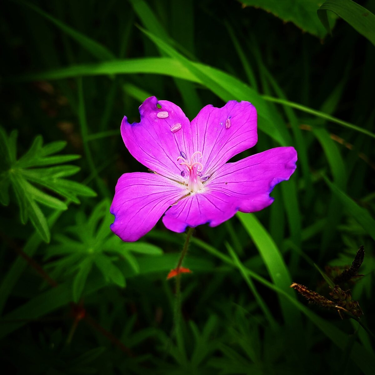
<path fill-rule="evenodd" d="M 326 31 L 317 18 L 319 0 L 240 0 L 243 5 L 260 7 L 284 22 L 293 22 L 303 31 L 323 38 Z"/>

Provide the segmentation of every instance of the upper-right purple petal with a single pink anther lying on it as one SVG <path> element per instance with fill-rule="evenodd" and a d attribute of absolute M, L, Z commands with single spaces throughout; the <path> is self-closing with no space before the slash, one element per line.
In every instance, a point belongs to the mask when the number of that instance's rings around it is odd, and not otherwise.
<path fill-rule="evenodd" d="M 213 174 L 231 157 L 258 141 L 257 110 L 249 102 L 206 105 L 191 122 L 194 151 L 202 153 L 203 175 Z"/>

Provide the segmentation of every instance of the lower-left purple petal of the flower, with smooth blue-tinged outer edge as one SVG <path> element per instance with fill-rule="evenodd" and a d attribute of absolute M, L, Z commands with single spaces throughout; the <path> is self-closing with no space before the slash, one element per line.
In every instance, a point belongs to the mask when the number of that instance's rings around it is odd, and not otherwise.
<path fill-rule="evenodd" d="M 110 211 L 111 230 L 124 241 L 150 231 L 168 207 L 186 195 L 186 187 L 153 173 L 125 173 L 117 182 Z"/>

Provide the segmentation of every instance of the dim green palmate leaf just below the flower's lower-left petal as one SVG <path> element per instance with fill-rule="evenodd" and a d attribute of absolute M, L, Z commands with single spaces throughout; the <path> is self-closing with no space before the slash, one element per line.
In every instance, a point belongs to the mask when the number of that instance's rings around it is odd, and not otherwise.
<path fill-rule="evenodd" d="M 76 225 L 65 229 L 66 234 L 60 233 L 54 237 L 56 243 L 48 246 L 44 257 L 44 260 L 48 260 L 46 269 L 52 269 L 50 275 L 54 278 L 74 274 L 72 294 L 75 302 L 79 301 L 86 280 L 90 272 L 95 272 L 95 268 L 106 282 L 124 288 L 125 278 L 138 274 L 140 270 L 138 260 L 132 253 L 151 256 L 163 254 L 155 245 L 125 243 L 115 236 L 110 230 L 113 216 L 107 199 L 96 205 L 89 217 L 80 212 L 76 220 Z"/>

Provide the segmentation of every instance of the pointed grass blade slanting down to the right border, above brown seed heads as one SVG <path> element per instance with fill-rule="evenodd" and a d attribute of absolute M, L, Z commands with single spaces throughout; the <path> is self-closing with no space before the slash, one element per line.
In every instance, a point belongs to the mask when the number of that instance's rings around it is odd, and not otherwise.
<path fill-rule="evenodd" d="M 375 240 L 375 220 L 371 217 L 365 208 L 360 207 L 348 195 L 346 195 L 338 186 L 333 184 L 328 178 L 324 177 L 327 185 L 333 193 L 340 199 L 345 210 L 365 229 L 372 239 Z"/>

